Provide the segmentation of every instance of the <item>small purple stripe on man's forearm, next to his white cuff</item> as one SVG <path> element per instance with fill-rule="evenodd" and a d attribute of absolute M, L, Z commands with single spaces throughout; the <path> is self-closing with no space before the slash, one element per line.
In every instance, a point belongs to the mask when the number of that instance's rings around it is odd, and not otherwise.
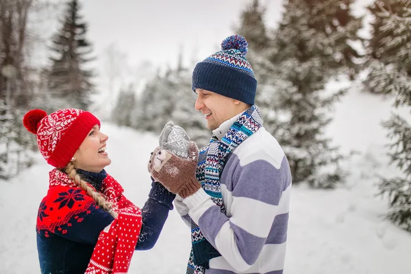
<path fill-rule="evenodd" d="M 198 225 L 204 237 L 213 247 L 216 248 L 216 236 L 228 220 L 228 217 L 221 213 L 219 206 L 211 206 L 201 215 Z"/>

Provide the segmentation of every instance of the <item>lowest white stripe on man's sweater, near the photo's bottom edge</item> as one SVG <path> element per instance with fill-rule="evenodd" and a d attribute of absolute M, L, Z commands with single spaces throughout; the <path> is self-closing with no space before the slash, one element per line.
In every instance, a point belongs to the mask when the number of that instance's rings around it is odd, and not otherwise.
<path fill-rule="evenodd" d="M 286 242 L 280 245 L 264 245 L 257 261 L 247 270 L 238 272 L 223 257 L 210 260 L 210 269 L 221 269 L 235 273 L 268 273 L 284 269 Z"/>

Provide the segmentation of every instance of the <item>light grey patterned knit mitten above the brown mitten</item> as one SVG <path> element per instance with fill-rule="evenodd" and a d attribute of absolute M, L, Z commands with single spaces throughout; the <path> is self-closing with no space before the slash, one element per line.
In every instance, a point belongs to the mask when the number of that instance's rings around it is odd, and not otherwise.
<path fill-rule="evenodd" d="M 182 127 L 174 125 L 173 121 L 169 121 L 164 125 L 158 142 L 160 148 L 166 149 L 181 158 L 188 158 L 190 138 L 186 131 Z"/>

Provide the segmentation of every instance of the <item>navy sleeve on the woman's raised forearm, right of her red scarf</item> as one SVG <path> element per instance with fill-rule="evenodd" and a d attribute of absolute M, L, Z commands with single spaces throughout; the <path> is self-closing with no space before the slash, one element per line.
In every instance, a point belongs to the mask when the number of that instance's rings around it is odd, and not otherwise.
<path fill-rule="evenodd" d="M 136 250 L 148 250 L 154 247 L 169 216 L 169 211 L 173 210 L 174 198 L 175 195 L 159 182 L 151 183 L 149 199 L 141 210 L 142 226 Z"/>

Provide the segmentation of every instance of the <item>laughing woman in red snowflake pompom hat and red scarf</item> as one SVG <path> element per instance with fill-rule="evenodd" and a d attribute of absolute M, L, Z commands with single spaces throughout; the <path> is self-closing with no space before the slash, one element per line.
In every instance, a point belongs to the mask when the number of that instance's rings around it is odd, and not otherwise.
<path fill-rule="evenodd" d="M 151 249 L 175 195 L 152 182 L 145 206 L 134 206 L 108 173 L 108 136 L 90 112 L 31 110 L 23 125 L 55 167 L 37 216 L 41 273 L 127 273 L 134 250 Z"/>

